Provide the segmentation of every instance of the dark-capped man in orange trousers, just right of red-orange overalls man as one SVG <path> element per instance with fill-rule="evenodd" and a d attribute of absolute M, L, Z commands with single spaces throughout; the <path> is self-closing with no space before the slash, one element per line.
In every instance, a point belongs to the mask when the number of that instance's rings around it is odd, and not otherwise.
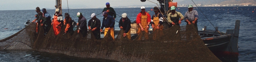
<path fill-rule="evenodd" d="M 65 33 L 69 32 L 69 34 L 73 34 L 73 25 L 72 25 L 72 18 L 69 16 L 68 13 L 65 13 L 64 25 L 66 25 Z"/>

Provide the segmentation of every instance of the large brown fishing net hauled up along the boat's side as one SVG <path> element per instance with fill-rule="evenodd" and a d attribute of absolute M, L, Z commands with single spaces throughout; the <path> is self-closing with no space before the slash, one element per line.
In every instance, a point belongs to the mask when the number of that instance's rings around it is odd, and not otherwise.
<path fill-rule="evenodd" d="M 123 30 L 115 40 L 110 32 L 102 40 L 96 40 L 92 31 L 83 37 L 77 31 L 73 35 L 64 33 L 62 28 L 54 36 L 53 28 L 44 35 L 41 26 L 38 33 L 35 27 L 31 23 L 16 34 L 0 40 L 0 50 L 32 49 L 120 62 L 221 62 L 204 45 L 193 24 L 155 30 L 152 34 L 142 31 L 134 40 L 123 37 Z"/>

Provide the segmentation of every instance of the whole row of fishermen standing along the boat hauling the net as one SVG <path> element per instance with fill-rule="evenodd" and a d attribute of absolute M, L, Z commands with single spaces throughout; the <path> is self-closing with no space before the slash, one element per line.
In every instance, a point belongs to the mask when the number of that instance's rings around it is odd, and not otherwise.
<path fill-rule="evenodd" d="M 145 31 L 148 33 L 149 25 L 151 24 L 153 31 L 155 30 L 163 30 L 163 20 L 164 17 L 162 13 L 160 12 L 158 7 L 154 7 L 155 14 L 150 16 L 149 13 L 146 12 L 145 7 L 141 7 L 141 12 L 137 15 L 136 23 L 138 24 L 138 34 L 140 32 Z M 180 13 L 176 11 L 176 7 L 172 6 L 170 7 L 171 12 L 168 14 L 167 22 L 170 23 L 170 27 L 173 25 L 180 26 L 181 20 L 185 19 L 185 22 L 188 24 L 193 23 L 197 29 L 197 19 L 198 19 L 198 13 L 197 11 L 193 10 L 193 6 L 188 6 L 188 11 L 185 13 L 185 17 Z M 38 20 L 37 23 L 37 31 L 39 26 L 44 27 L 44 34 L 46 35 L 50 27 L 53 26 L 53 32 L 54 35 L 57 36 L 63 25 L 66 25 L 65 27 L 65 33 L 69 32 L 71 35 L 74 33 L 73 27 L 72 27 L 72 18 L 69 16 L 69 13 L 65 13 L 65 19 L 63 21 L 63 16 L 60 14 L 60 9 L 55 10 L 55 14 L 52 17 L 52 20 L 50 20 L 50 14 L 46 12 L 46 9 L 43 8 L 42 11 L 39 7 L 35 10 L 37 12 L 37 15 L 35 15 L 36 19 L 33 20 L 35 22 Z M 114 39 L 114 25 L 115 25 L 115 19 L 116 19 L 116 12 L 112 7 L 110 7 L 110 3 L 106 3 L 106 7 L 102 11 L 102 15 L 104 16 L 101 21 L 96 17 L 95 13 L 91 14 L 91 19 L 88 22 L 87 26 L 87 20 L 84 18 L 81 12 L 77 13 L 78 17 L 78 33 L 82 33 L 83 37 L 87 35 L 87 27 L 89 30 L 93 32 L 93 35 L 96 39 L 100 39 L 100 32 L 102 32 L 103 28 L 105 27 L 104 36 L 107 34 L 108 31 L 110 31 L 110 35 Z M 122 18 L 119 20 L 118 26 L 121 28 L 121 30 L 124 30 L 123 36 L 127 36 L 129 39 L 131 39 L 131 20 L 127 17 L 127 13 L 123 13 Z"/>

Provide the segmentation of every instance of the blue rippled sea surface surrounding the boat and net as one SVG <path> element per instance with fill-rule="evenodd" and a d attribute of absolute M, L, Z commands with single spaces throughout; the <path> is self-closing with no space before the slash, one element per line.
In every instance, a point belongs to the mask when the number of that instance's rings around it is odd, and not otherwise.
<path fill-rule="evenodd" d="M 238 38 L 238 60 L 220 58 L 229 62 L 256 62 L 256 7 L 194 7 L 198 14 L 198 29 L 202 30 L 207 26 L 207 30 L 215 30 L 211 23 L 218 27 L 219 31 L 226 32 L 227 29 L 234 29 L 236 20 L 240 20 L 240 32 Z M 41 8 L 42 9 L 42 8 Z M 146 8 L 152 16 L 154 11 L 152 8 Z M 77 12 L 82 12 L 83 16 L 88 19 L 91 13 L 99 14 L 97 18 L 102 21 L 101 15 L 103 9 L 69 9 L 72 19 L 76 22 Z M 127 13 L 131 21 L 136 20 L 136 16 L 140 12 L 140 8 L 114 8 L 117 14 L 116 20 L 119 22 L 122 13 Z M 201 11 L 202 12 L 201 12 Z M 46 9 L 51 16 L 54 14 L 54 9 Z M 176 11 L 185 15 L 188 11 L 187 7 L 176 8 Z M 252 12 L 254 11 L 254 12 Z M 68 9 L 63 9 L 63 14 L 68 12 Z M 204 13 L 204 15 L 203 15 Z M 7 38 L 12 34 L 25 28 L 24 23 L 27 20 L 35 19 L 35 10 L 8 10 L 0 11 L 0 39 Z M 208 20 L 210 20 L 210 22 Z M 89 20 L 89 19 L 88 19 Z M 87 22 L 88 22 L 87 20 Z M 115 30 L 120 30 L 118 22 L 115 23 Z M 181 26 L 186 25 L 182 20 Z M 95 58 L 79 58 L 68 56 L 59 53 L 47 53 L 33 50 L 0 50 L 0 62 L 115 62 L 113 60 L 95 59 Z"/>

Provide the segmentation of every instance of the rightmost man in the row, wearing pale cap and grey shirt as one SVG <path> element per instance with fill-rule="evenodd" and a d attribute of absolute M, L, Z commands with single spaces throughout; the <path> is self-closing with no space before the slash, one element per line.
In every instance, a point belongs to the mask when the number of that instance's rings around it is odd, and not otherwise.
<path fill-rule="evenodd" d="M 198 20 L 198 13 L 196 10 L 193 10 L 192 5 L 188 5 L 188 12 L 185 13 L 185 22 L 187 22 L 187 25 L 193 23 L 196 31 L 198 32 L 197 28 L 197 20 Z"/>

